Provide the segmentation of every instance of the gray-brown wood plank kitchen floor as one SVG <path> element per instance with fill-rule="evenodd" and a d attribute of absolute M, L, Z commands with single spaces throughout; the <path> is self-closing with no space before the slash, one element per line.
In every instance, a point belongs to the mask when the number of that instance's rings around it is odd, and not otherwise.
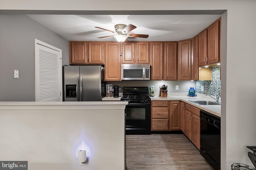
<path fill-rule="evenodd" d="M 126 135 L 126 170 L 213 170 L 184 134 Z"/>

